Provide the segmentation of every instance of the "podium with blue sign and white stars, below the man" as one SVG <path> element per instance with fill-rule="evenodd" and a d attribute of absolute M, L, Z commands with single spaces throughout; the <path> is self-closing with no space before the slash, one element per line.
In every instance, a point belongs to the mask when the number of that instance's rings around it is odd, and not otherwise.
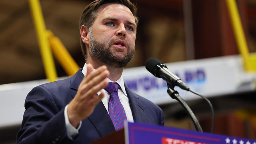
<path fill-rule="evenodd" d="M 256 144 L 256 140 L 126 122 L 124 129 L 91 144 Z"/>

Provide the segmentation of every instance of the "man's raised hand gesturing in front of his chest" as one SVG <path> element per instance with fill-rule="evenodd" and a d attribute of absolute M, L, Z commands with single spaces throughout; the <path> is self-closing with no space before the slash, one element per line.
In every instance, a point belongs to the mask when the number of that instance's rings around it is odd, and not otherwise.
<path fill-rule="evenodd" d="M 100 66 L 93 71 L 92 65 L 87 65 L 87 73 L 80 83 L 76 96 L 68 104 L 68 119 L 72 126 L 77 127 L 80 120 L 92 114 L 95 106 L 103 98 L 104 93 L 97 94 L 108 85 L 106 78 L 109 76 L 106 66 Z"/>

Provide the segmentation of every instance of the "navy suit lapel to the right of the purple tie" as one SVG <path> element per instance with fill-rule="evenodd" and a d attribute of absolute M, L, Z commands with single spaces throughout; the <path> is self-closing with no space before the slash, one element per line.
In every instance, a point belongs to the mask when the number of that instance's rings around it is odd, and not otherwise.
<path fill-rule="evenodd" d="M 125 83 L 124 87 L 129 98 L 134 122 L 147 122 L 145 113 L 146 109 L 145 106 L 140 102 L 139 96 L 132 92 Z"/>

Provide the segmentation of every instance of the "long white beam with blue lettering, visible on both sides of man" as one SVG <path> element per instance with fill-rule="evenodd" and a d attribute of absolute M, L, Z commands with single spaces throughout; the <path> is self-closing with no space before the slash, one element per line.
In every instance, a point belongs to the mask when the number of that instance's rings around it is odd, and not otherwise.
<path fill-rule="evenodd" d="M 223 56 L 166 64 L 188 86 L 204 96 L 220 96 L 255 90 L 255 73 L 244 72 L 240 56 Z M 125 68 L 124 81 L 128 87 L 156 104 L 176 102 L 168 96 L 166 82 L 154 77 L 143 67 Z M 33 87 L 48 82 L 35 80 L 0 85 L 0 127 L 20 124 L 25 98 Z M 175 87 L 184 100 L 200 98 Z"/>

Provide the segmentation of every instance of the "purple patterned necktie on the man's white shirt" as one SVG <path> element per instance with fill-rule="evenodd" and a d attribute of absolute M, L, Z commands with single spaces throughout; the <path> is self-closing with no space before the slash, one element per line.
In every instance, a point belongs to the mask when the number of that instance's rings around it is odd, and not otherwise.
<path fill-rule="evenodd" d="M 108 86 L 104 89 L 110 95 L 108 112 L 116 131 L 118 131 L 124 127 L 124 121 L 127 120 L 124 107 L 122 106 L 117 93 L 120 86 L 116 82 L 109 82 Z"/>

